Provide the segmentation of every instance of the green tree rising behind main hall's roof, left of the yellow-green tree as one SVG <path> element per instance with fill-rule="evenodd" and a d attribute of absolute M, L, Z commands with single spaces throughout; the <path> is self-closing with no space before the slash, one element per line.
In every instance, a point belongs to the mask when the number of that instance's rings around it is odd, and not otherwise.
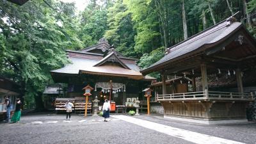
<path fill-rule="evenodd" d="M 105 37 L 110 44 L 115 45 L 116 51 L 121 52 L 124 56 L 137 57 L 134 51 L 135 30 L 131 20 L 131 13 L 127 12 L 127 6 L 122 0 L 108 9 L 108 26 Z"/>

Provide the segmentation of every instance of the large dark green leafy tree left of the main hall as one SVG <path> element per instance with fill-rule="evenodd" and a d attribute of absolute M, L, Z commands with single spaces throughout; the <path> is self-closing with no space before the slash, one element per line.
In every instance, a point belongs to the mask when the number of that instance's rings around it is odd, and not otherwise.
<path fill-rule="evenodd" d="M 65 7 L 54 1 L 52 5 Z M 65 19 L 70 13 L 59 13 L 43 1 L 29 1 L 24 6 L 0 3 L 0 8 L 0 16 L 4 17 L 0 19 L 0 75 L 20 83 L 26 90 L 25 105 L 35 106 L 35 98 L 42 96 L 51 81 L 49 71 L 68 63 L 64 50 L 79 47 L 79 41 L 74 40 L 77 36 L 70 33 L 76 30 L 69 27 L 74 21 Z M 65 24 L 58 26 L 58 20 Z"/>

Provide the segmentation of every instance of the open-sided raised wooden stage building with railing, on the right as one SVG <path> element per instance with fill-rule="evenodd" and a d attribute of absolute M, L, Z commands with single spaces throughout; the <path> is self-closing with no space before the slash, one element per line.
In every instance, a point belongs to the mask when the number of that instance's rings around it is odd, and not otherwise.
<path fill-rule="evenodd" d="M 160 72 L 164 117 L 203 124 L 246 122 L 255 95 L 256 41 L 232 17 L 168 48 L 142 74 Z M 166 76 L 189 77 L 193 92 L 166 92 Z M 246 92 L 245 92 L 246 91 Z"/>

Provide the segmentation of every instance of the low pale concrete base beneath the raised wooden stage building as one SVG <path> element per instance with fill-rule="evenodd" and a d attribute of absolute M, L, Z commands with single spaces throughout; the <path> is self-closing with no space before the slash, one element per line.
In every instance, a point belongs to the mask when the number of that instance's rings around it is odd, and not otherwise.
<path fill-rule="evenodd" d="M 239 123 L 246 123 L 248 122 L 247 119 L 241 119 L 241 120 L 195 120 L 191 118 L 179 118 L 175 116 L 166 116 L 164 115 L 164 118 L 169 118 L 171 120 L 180 120 L 183 122 L 193 122 L 197 124 L 206 124 L 206 125 L 216 125 L 216 124 L 239 124 Z"/>

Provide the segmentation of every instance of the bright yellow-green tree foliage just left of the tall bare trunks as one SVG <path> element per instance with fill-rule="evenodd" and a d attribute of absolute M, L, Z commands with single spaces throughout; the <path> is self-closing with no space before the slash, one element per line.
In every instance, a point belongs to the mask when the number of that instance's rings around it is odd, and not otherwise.
<path fill-rule="evenodd" d="M 159 38 L 160 33 L 154 7 L 148 6 L 147 1 L 143 0 L 124 0 L 124 4 L 128 8 L 127 12 L 131 13 L 132 21 L 135 22 L 134 29 L 137 32 L 137 35 L 134 36 L 135 51 L 143 54 L 156 49 L 154 41 L 157 36 Z"/>

